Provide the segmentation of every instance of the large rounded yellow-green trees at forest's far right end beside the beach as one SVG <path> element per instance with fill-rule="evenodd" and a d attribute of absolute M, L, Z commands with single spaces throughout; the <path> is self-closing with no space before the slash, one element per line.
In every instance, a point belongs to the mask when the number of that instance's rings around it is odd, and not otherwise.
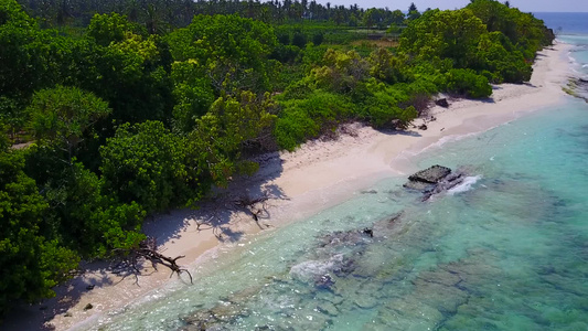
<path fill-rule="evenodd" d="M 493 83 L 523 83 L 531 78 L 530 60 L 552 40 L 532 14 L 477 0 L 457 11 L 426 12 L 403 32 L 398 51 L 414 63 L 451 60 L 453 67 L 483 73 Z"/>

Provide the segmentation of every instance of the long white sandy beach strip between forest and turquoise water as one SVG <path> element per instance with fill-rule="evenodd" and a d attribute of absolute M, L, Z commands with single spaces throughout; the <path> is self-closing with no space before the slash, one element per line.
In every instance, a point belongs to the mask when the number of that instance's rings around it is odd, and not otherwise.
<path fill-rule="evenodd" d="M 259 158 L 261 168 L 252 178 L 240 179 L 222 193 L 222 203 L 199 211 L 175 211 L 148 222 L 149 235 L 156 236 L 168 256 L 185 255 L 180 265 L 193 269 L 204 258 L 214 257 L 214 248 L 239 236 L 282 226 L 351 197 L 378 179 L 416 171 L 411 157 L 452 139 L 478 134 L 511 121 L 525 113 L 555 106 L 565 100 L 562 86 L 569 77 L 569 46 L 557 44 L 544 50 L 534 66 L 528 84 L 496 86 L 492 99 L 450 100 L 449 108 L 434 107 L 427 130 L 405 134 L 381 132 L 360 125 L 349 125 L 349 132 L 336 140 L 310 141 L 296 152 L 274 153 Z M 415 124 L 420 125 L 424 119 Z M 248 194 L 257 197 L 267 192 L 267 213 L 258 223 L 250 215 L 226 209 L 231 201 Z M 215 229 L 200 226 L 195 220 L 213 220 Z M 220 235 L 220 237 L 217 237 Z M 99 317 L 119 310 L 169 281 L 174 275 L 160 267 L 147 268 L 139 276 L 121 278 L 107 265 L 89 264 L 86 273 L 57 288 L 57 297 L 41 305 L 24 307 L 9 317 L 7 330 L 84 329 Z M 182 276 L 183 281 L 188 277 Z M 193 274 L 197 281 L 197 273 Z M 95 285 L 93 289 L 86 289 Z M 190 286 L 189 281 L 185 286 Z M 93 308 L 84 310 L 92 303 Z"/>

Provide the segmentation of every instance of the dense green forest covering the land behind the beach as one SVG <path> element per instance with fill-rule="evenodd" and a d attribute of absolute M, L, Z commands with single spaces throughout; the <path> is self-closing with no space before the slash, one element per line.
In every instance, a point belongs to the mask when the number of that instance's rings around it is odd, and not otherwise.
<path fill-rule="evenodd" d="M 137 247 L 339 124 L 403 129 L 437 93 L 528 81 L 554 39 L 493 0 L 455 11 L 316 1 L 0 0 L 0 316 L 81 259 Z M 17 143 L 26 142 L 25 147 Z"/>

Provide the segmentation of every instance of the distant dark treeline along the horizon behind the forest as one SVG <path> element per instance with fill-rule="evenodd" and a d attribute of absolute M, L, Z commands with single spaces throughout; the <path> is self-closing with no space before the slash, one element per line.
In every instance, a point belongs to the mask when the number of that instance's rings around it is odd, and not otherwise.
<path fill-rule="evenodd" d="M 26 12 L 40 19 L 42 26 L 86 26 L 96 13 L 117 12 L 132 22 L 145 24 L 149 33 L 170 32 L 186 26 L 196 14 L 238 14 L 268 24 L 288 22 L 327 22 L 338 25 L 379 28 L 403 24 L 406 15 L 400 10 L 360 8 L 317 3 L 317 1 L 238 1 L 238 0 L 18 0 Z M 416 6 L 409 18 L 418 18 Z"/>

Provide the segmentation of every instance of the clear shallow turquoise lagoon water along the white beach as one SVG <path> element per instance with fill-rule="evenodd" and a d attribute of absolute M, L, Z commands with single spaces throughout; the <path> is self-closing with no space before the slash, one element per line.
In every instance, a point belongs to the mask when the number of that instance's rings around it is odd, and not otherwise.
<path fill-rule="evenodd" d="M 586 103 L 570 97 L 416 162 L 463 168 L 468 184 L 421 202 L 406 179 L 384 180 L 224 248 L 194 285 L 81 329 L 588 329 Z"/>

